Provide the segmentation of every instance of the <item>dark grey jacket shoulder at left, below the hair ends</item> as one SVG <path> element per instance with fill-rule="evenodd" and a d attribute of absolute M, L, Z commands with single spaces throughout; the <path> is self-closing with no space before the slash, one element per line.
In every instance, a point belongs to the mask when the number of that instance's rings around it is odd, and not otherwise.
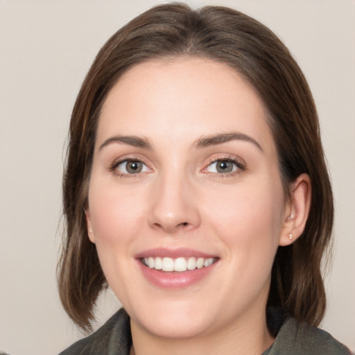
<path fill-rule="evenodd" d="M 131 343 L 130 318 L 120 309 L 97 331 L 78 340 L 59 355 L 126 355 Z"/>

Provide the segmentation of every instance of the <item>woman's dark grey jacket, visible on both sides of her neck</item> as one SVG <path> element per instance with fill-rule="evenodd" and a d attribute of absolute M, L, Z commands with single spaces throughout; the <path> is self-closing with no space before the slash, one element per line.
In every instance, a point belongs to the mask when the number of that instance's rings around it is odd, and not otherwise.
<path fill-rule="evenodd" d="M 349 350 L 330 334 L 306 323 L 297 324 L 279 311 L 268 313 L 275 342 L 261 355 L 349 355 Z M 79 340 L 60 355 L 129 355 L 132 345 L 130 318 L 120 309 L 90 336 Z"/>

